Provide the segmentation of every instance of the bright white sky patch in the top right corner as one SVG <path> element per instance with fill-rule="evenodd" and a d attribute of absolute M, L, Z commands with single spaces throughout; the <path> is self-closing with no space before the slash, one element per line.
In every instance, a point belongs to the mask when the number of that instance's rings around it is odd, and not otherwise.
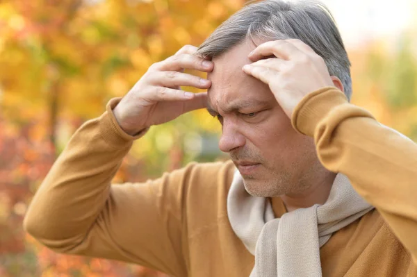
<path fill-rule="evenodd" d="M 417 24 L 414 19 L 417 17 L 417 0 L 322 2 L 332 11 L 347 47 L 359 47 L 377 37 L 395 38 L 400 31 Z"/>

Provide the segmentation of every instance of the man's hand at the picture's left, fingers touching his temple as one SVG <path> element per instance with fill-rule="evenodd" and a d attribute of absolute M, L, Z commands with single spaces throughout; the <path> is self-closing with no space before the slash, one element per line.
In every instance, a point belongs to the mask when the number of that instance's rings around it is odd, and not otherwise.
<path fill-rule="evenodd" d="M 120 127 L 136 135 L 152 125 L 163 124 L 185 112 L 206 108 L 207 93 L 194 94 L 180 86 L 207 89 L 211 82 L 183 73 L 184 69 L 211 72 L 213 62 L 193 55 L 197 47 L 186 45 L 174 56 L 156 62 L 123 97 L 113 112 Z"/>

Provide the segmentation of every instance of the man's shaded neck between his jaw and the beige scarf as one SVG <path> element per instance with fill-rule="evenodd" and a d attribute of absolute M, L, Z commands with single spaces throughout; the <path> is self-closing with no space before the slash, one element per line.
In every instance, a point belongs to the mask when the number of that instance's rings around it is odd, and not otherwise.
<path fill-rule="evenodd" d="M 291 212 L 299 208 L 309 208 L 314 204 L 324 204 L 329 198 L 330 190 L 336 178 L 336 174 L 327 171 L 321 178 L 304 184 L 302 187 L 306 188 L 302 192 L 291 192 L 289 194 L 281 195 L 286 210 Z"/>

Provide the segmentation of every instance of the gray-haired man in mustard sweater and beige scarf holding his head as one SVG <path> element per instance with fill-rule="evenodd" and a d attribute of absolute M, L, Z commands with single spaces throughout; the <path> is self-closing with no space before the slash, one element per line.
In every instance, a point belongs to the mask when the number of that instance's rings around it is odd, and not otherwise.
<path fill-rule="evenodd" d="M 172 276 L 416 276 L 417 146 L 348 102 L 349 67 L 322 5 L 253 3 L 83 124 L 24 226 Z M 197 108 L 231 162 L 111 185 L 133 140 Z"/>

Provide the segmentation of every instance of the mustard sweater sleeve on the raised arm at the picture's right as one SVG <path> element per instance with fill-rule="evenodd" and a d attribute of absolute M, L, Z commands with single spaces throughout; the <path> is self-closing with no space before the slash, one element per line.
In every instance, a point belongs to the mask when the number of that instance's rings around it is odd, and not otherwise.
<path fill-rule="evenodd" d="M 417 264 L 417 144 L 379 124 L 334 87 L 302 99 L 294 128 L 314 138 L 327 169 L 345 174 Z"/>

